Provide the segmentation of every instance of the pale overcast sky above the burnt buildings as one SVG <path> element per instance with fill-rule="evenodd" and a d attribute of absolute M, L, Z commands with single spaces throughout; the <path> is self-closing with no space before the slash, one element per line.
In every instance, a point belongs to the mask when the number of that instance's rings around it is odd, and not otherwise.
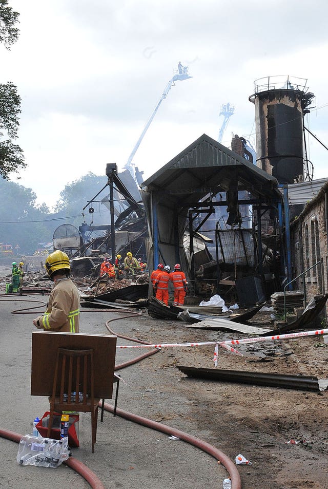
<path fill-rule="evenodd" d="M 1 82 L 22 97 L 18 144 L 28 168 L 13 181 L 52 206 L 65 184 L 127 163 L 179 61 L 177 81 L 134 163 L 145 179 L 203 133 L 217 139 L 221 105 L 234 104 L 222 144 L 254 142 L 256 79 L 308 79 L 317 108 L 306 125 L 328 146 L 326 0 L 9 0 L 20 36 L 0 46 Z M 255 144 L 255 142 L 254 142 Z M 314 178 L 328 152 L 307 141 Z M 90 198 L 93 196 L 90 196 Z"/>

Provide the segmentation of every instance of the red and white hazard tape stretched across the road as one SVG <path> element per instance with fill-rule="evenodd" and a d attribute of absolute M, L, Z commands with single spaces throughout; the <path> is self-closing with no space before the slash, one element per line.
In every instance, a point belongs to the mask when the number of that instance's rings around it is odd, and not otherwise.
<path fill-rule="evenodd" d="M 195 347 L 204 345 L 215 345 L 214 348 L 214 358 L 213 362 L 217 367 L 219 346 L 224 348 L 236 355 L 243 356 L 238 350 L 232 347 L 232 345 L 242 345 L 243 343 L 255 343 L 255 342 L 265 342 L 272 340 L 287 340 L 288 338 L 300 338 L 303 336 L 315 336 L 328 333 L 328 329 L 317 329 L 314 331 L 301 331 L 299 333 L 287 333 L 287 334 L 277 334 L 276 336 L 258 336 L 255 338 L 242 338 L 241 340 L 228 340 L 228 341 L 211 341 L 211 342 L 194 342 L 194 343 L 159 343 L 153 345 L 121 345 L 116 348 L 166 348 L 166 347 Z"/>

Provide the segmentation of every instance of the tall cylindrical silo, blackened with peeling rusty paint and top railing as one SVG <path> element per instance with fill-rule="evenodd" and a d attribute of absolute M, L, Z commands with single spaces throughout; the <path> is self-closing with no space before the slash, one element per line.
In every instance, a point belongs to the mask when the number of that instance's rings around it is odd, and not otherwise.
<path fill-rule="evenodd" d="M 313 99 L 307 80 L 267 77 L 254 82 L 256 164 L 279 183 L 304 180 L 303 116 Z"/>

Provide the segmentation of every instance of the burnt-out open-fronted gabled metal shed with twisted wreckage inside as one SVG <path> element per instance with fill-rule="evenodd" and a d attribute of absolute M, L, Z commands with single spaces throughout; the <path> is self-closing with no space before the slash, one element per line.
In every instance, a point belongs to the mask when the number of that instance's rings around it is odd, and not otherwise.
<path fill-rule="evenodd" d="M 215 275 L 215 290 L 228 275 L 240 280 L 249 275 L 262 275 L 267 253 L 263 251 L 261 228 L 259 225 L 258 229 L 241 229 L 239 204 L 250 206 L 258 216 L 268 210 L 282 216 L 283 213 L 279 213 L 282 195 L 275 177 L 204 134 L 141 187 L 149 225 L 149 260 L 154 267 L 158 262 L 170 265 L 180 262 L 188 272 L 191 295 L 197 293 L 199 284 L 207 279 L 195 269 L 194 236 L 221 206 L 228 210 L 230 230 L 219 229 L 217 222 L 213 230 L 215 255 L 208 268 Z M 221 199 L 223 192 L 225 199 Z M 238 192 L 246 198 L 240 200 Z M 189 261 L 183 247 L 187 222 Z M 280 222 L 282 228 L 283 221 Z M 279 275 L 279 271 L 276 273 Z M 269 274 L 272 280 L 273 272 Z M 257 291 L 254 280 L 254 292 Z"/>

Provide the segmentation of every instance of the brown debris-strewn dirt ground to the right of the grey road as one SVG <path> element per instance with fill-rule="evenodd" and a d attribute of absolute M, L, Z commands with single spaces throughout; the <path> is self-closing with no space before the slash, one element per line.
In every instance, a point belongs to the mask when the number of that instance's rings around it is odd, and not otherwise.
<path fill-rule="evenodd" d="M 139 339 L 153 342 L 215 341 L 245 337 L 240 333 L 197 330 L 184 323 L 137 318 Z M 270 328 L 270 314 L 252 324 Z M 145 330 L 147 333 L 145 334 Z M 254 343 L 238 347 L 244 356 L 220 349 L 218 368 L 328 378 L 328 345 L 322 336 Z M 155 355 L 157 356 L 157 355 Z M 191 415 L 209 443 L 235 460 L 242 454 L 252 465 L 239 465 L 245 489 L 328 487 L 328 391 L 203 381 L 186 377 L 176 365 L 213 368 L 213 347 L 162 349 L 159 365 L 163 389 L 190 399 Z M 158 360 L 158 359 L 157 359 Z M 149 369 L 152 360 L 142 364 Z M 160 419 L 170 424 L 174 407 Z M 294 440 L 295 444 L 288 444 Z M 220 485 L 218 485 L 220 487 Z"/>

